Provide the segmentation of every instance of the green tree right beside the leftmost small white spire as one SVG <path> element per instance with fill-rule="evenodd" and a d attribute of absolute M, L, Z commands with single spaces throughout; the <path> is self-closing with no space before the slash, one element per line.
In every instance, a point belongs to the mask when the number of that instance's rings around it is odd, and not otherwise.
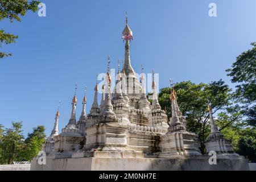
<path fill-rule="evenodd" d="M 42 144 L 46 142 L 46 134 L 44 126 L 34 127 L 32 133 L 28 133 L 25 140 L 25 150 L 23 151 L 23 160 L 31 161 L 38 152 L 42 150 Z"/>

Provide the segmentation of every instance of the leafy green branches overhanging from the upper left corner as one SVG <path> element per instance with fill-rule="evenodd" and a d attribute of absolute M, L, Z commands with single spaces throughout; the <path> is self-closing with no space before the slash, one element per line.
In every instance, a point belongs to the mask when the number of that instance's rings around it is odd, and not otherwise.
<path fill-rule="evenodd" d="M 32 12 L 37 11 L 39 3 L 40 1 L 28 2 L 27 0 L 1 0 L 0 21 L 3 19 L 9 19 L 11 23 L 13 23 L 14 20 L 21 22 L 20 16 L 24 16 L 29 10 Z M 0 30 L 0 47 L 2 47 L 2 44 L 15 43 L 15 39 L 18 39 L 17 35 Z M 0 52 L 0 58 L 7 56 L 11 56 L 11 53 Z"/>

